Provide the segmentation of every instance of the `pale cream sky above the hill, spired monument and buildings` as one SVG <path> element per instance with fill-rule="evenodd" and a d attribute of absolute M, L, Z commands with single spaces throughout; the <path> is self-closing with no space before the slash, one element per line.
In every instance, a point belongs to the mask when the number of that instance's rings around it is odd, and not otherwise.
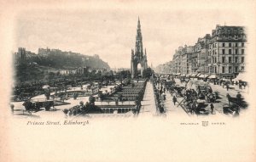
<path fill-rule="evenodd" d="M 160 4 L 159 4 L 160 5 Z M 98 54 L 111 68 L 130 67 L 140 17 L 148 65 L 172 59 L 179 46 L 194 45 L 216 25 L 245 25 L 245 15 L 226 8 L 138 7 L 30 9 L 16 17 L 15 47 L 38 53 L 38 47 L 59 48 L 87 55 Z M 137 7 L 135 7 L 137 6 Z"/>

